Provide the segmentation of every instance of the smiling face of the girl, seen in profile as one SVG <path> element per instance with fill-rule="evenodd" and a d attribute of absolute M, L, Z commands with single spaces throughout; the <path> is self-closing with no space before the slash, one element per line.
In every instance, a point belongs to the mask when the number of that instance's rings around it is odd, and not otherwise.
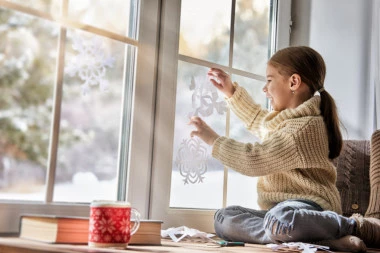
<path fill-rule="evenodd" d="M 267 65 L 267 83 L 263 91 L 270 100 L 275 111 L 282 111 L 291 108 L 292 91 L 291 78 L 280 75 L 278 70 L 272 65 Z"/>

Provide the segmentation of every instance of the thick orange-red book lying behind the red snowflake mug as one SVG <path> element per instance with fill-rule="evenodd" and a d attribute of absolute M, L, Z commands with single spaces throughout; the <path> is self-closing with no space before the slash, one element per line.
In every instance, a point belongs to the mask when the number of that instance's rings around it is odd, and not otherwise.
<path fill-rule="evenodd" d="M 134 222 L 131 221 L 131 226 Z M 161 245 L 159 220 L 140 220 L 140 227 L 131 236 L 131 245 Z M 88 217 L 22 215 L 19 237 L 46 243 L 87 244 L 89 233 Z"/>

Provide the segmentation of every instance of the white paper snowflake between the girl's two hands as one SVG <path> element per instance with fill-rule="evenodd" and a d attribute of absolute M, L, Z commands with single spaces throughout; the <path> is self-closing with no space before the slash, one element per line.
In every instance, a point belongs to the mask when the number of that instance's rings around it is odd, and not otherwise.
<path fill-rule="evenodd" d="M 227 103 L 224 100 L 218 101 L 218 91 L 207 78 L 196 79 L 192 76 L 189 88 L 194 91 L 191 97 L 193 111 L 189 113 L 189 117 L 207 117 L 214 110 L 223 115 L 227 111 Z"/>

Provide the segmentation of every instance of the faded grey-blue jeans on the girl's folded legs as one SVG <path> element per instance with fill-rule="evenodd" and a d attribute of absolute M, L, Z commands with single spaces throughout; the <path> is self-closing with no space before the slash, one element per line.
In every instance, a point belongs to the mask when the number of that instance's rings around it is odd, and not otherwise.
<path fill-rule="evenodd" d="M 268 211 L 229 206 L 214 216 L 220 238 L 259 244 L 338 239 L 351 235 L 355 226 L 354 219 L 300 199 L 283 201 Z"/>

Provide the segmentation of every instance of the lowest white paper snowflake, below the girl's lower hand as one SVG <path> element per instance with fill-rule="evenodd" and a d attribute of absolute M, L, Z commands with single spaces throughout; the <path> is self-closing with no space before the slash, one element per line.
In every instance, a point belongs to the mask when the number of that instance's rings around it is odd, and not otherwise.
<path fill-rule="evenodd" d="M 207 149 L 198 138 L 184 139 L 178 149 L 175 165 L 184 184 L 202 183 L 207 171 Z"/>

